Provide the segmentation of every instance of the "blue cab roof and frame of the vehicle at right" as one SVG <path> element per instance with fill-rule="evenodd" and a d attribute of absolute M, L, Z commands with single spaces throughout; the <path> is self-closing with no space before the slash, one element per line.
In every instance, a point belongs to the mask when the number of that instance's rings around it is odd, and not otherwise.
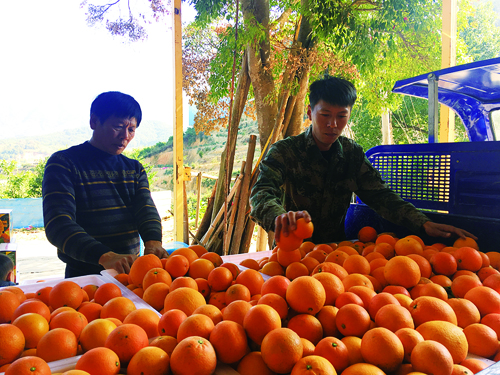
<path fill-rule="evenodd" d="M 490 112 L 500 109 L 500 58 L 476 61 L 397 81 L 395 93 L 428 98 L 428 77 L 438 79 L 438 101 L 462 119 L 471 141 L 495 140 Z M 497 135 L 499 136 L 499 135 Z"/>

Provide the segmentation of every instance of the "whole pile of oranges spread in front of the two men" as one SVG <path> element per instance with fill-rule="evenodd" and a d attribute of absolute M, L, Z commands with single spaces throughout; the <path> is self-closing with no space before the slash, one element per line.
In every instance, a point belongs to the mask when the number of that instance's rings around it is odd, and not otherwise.
<path fill-rule="evenodd" d="M 0 372 L 77 354 L 65 374 L 456 375 L 487 366 L 469 354 L 500 360 L 500 253 L 371 227 L 314 244 L 312 230 L 299 220 L 243 271 L 199 245 L 142 256 L 116 279 L 148 309 L 114 283 L 1 289 Z"/>

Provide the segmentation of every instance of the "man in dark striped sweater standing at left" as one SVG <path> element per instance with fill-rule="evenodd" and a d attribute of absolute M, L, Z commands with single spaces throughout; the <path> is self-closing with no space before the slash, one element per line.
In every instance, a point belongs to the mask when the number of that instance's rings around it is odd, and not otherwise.
<path fill-rule="evenodd" d="M 139 254 L 167 257 L 161 220 L 144 167 L 122 155 L 141 122 L 139 103 L 100 94 L 90 108 L 90 141 L 54 153 L 42 184 L 47 239 L 66 263 L 65 276 L 128 273 Z"/>

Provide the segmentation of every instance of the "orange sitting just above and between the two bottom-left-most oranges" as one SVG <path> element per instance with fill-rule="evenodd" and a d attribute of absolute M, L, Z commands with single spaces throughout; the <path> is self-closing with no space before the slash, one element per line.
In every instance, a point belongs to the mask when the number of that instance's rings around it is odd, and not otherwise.
<path fill-rule="evenodd" d="M 36 355 L 46 362 L 76 356 L 78 341 L 73 332 L 66 328 L 54 328 L 38 342 Z"/>

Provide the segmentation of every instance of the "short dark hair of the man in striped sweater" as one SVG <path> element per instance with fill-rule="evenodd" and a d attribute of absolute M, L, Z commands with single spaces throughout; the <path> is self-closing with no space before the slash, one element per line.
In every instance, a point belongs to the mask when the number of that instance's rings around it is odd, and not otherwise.
<path fill-rule="evenodd" d="M 132 118 L 137 120 L 137 126 L 142 120 L 141 106 L 132 96 L 119 91 L 108 91 L 99 94 L 90 106 L 90 114 L 99 118 L 101 123 L 111 116 Z"/>

